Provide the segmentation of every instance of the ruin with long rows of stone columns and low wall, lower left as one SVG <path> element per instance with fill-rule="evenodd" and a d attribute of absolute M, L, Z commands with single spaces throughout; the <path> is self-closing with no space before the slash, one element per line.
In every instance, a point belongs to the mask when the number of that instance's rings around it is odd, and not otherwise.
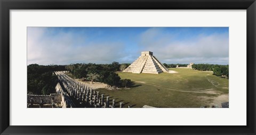
<path fill-rule="evenodd" d="M 28 95 L 29 108 L 123 108 L 125 105 L 123 102 L 116 102 L 116 99 L 110 99 L 109 95 L 100 94 L 99 91 L 95 91 L 70 78 L 66 71 L 55 71 L 54 73 L 59 79 L 59 83 L 55 87 L 57 94 Z M 52 96 L 58 98 L 52 98 Z M 44 97 L 44 99 L 41 100 L 40 97 Z M 43 103 L 44 106 L 40 106 L 40 103 Z M 131 105 L 128 105 L 128 107 L 130 108 Z"/>

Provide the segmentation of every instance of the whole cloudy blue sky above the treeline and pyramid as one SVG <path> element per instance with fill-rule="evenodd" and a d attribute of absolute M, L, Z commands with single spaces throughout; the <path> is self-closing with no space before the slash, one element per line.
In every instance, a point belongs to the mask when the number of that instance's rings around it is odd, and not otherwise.
<path fill-rule="evenodd" d="M 28 64 L 132 63 L 151 51 L 162 63 L 228 64 L 228 27 L 28 27 Z"/>

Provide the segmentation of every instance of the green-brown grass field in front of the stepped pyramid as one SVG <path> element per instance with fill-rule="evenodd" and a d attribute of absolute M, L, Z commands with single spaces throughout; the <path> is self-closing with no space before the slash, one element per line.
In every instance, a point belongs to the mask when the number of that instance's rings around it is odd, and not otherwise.
<path fill-rule="evenodd" d="M 200 107 L 228 102 L 228 79 L 212 72 L 192 69 L 170 69 L 178 73 L 134 74 L 118 72 L 121 79 L 131 79 L 130 89 L 98 89 L 125 107 Z"/>

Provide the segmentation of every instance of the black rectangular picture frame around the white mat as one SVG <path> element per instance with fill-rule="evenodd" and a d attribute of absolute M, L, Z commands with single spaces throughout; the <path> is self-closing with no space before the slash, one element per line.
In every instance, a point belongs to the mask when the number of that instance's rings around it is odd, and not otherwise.
<path fill-rule="evenodd" d="M 0 0 L 0 133 L 1 134 L 255 134 L 255 0 Z M 246 10 L 247 124 L 246 126 L 11 126 L 10 10 L 30 9 L 197 9 Z M 234 120 L 235 121 L 235 120 Z"/>

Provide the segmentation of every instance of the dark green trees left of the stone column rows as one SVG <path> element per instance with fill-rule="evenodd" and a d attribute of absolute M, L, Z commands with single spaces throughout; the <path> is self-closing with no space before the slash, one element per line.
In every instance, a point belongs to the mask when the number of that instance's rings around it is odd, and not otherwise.
<path fill-rule="evenodd" d="M 55 86 L 58 78 L 53 71 L 63 71 L 62 65 L 38 65 L 30 64 L 27 66 L 27 93 L 34 95 L 49 95 L 55 93 Z"/>

